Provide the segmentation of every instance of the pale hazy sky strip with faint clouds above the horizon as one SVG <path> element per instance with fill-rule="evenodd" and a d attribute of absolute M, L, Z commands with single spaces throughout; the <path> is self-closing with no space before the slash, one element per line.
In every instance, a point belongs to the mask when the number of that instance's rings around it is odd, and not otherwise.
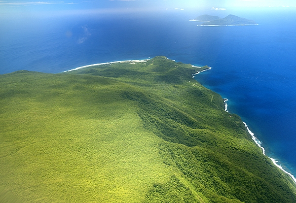
<path fill-rule="evenodd" d="M 227 9 L 296 7 L 296 0 L 0 0 L 0 15 L 13 12 L 77 10 Z"/>

